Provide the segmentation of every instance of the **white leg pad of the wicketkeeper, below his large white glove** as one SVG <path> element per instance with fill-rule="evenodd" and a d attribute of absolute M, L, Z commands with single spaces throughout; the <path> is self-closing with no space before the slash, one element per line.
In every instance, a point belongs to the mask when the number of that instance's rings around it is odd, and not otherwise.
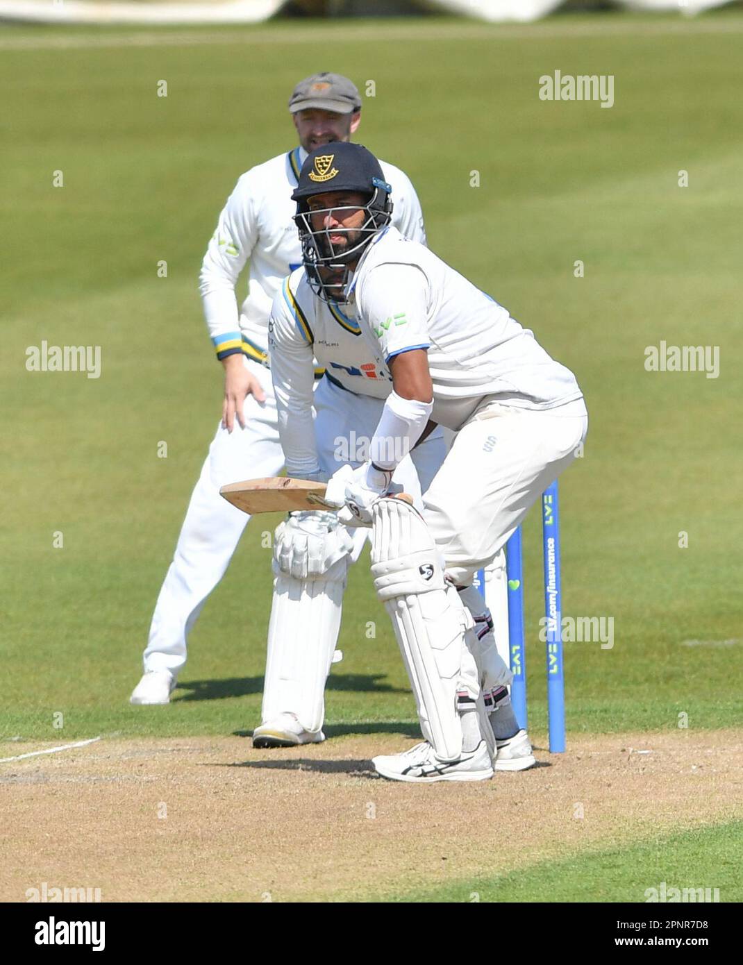
<path fill-rule="evenodd" d="M 325 681 L 341 628 L 348 557 L 320 578 L 297 580 L 274 561 L 261 719 L 293 713 L 305 731 L 325 717 Z"/>

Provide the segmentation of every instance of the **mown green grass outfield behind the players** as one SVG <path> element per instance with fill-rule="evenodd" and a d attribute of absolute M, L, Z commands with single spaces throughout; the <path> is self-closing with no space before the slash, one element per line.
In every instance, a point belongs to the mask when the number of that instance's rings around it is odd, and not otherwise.
<path fill-rule="evenodd" d="M 261 532 L 275 518 L 251 524 L 208 600 L 177 700 L 126 702 L 221 410 L 197 292 L 206 241 L 237 176 L 292 147 L 295 81 L 328 68 L 362 90 L 375 81 L 359 139 L 412 177 L 434 250 L 534 328 L 588 400 L 586 454 L 561 486 L 564 615 L 614 618 L 615 645 L 566 645 L 568 730 L 674 729 L 681 712 L 690 728 L 741 724 L 743 17 L 609 16 L 605 31 L 599 20 L 292 23 L 169 32 L 162 45 L 151 29 L 0 31 L 0 734 L 62 742 L 259 722 Z M 614 74 L 615 106 L 539 100 L 539 76 L 555 69 Z M 167 98 L 155 96 L 161 79 Z M 27 346 L 44 339 L 100 345 L 101 377 L 26 372 Z M 719 345 L 719 378 L 646 372 L 660 340 Z M 525 540 L 541 728 L 537 522 Z M 341 646 L 329 733 L 414 732 L 365 565 Z"/>

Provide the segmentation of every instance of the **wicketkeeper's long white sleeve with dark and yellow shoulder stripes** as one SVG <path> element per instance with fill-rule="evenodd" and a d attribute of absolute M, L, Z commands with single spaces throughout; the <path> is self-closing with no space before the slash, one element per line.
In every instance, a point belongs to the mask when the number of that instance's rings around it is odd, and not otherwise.
<path fill-rule="evenodd" d="M 315 360 L 312 333 L 285 279 L 268 320 L 268 356 L 289 476 L 319 471 L 313 423 Z"/>

